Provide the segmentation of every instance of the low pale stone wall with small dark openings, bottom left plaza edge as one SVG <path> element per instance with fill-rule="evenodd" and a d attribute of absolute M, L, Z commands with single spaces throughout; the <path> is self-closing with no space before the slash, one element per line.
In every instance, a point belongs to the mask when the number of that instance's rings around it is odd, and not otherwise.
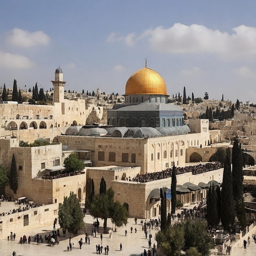
<path fill-rule="evenodd" d="M 18 234 L 53 225 L 54 218 L 58 218 L 58 204 L 47 204 L 27 211 L 0 216 L 0 239 L 7 240 L 11 232 Z"/>

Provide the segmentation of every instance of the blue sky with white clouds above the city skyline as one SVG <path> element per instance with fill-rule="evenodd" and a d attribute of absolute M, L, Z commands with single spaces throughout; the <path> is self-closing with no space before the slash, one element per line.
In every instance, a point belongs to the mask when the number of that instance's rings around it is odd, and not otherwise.
<path fill-rule="evenodd" d="M 167 92 L 256 103 L 254 0 L 0 0 L 0 85 L 124 94 L 147 66 Z"/>

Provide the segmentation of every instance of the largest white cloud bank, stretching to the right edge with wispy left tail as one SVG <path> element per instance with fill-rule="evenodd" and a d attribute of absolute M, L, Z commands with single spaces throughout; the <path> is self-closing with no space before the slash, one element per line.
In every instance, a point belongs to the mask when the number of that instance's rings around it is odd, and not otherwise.
<path fill-rule="evenodd" d="M 202 25 L 190 26 L 175 23 L 172 27 L 156 27 L 135 36 L 134 33 L 117 37 L 110 34 L 111 41 L 124 40 L 129 45 L 147 39 L 156 52 L 169 54 L 210 53 L 223 57 L 249 56 L 256 54 L 256 28 L 240 25 L 232 29 L 231 34 L 212 30 Z"/>

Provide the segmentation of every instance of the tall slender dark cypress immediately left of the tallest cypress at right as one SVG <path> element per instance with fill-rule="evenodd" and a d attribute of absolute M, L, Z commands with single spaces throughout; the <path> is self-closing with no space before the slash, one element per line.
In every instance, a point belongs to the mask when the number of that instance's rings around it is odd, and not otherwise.
<path fill-rule="evenodd" d="M 225 230 L 230 231 L 235 220 L 235 205 L 233 199 L 232 174 L 230 165 L 230 151 L 227 149 L 224 163 L 222 191 L 221 191 L 221 222 Z"/>

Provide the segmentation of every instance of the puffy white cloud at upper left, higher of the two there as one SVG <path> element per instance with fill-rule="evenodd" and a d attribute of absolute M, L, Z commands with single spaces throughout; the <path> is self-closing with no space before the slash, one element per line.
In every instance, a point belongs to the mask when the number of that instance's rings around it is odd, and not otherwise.
<path fill-rule="evenodd" d="M 14 28 L 7 32 L 7 43 L 16 47 L 33 47 L 37 45 L 49 45 L 51 38 L 43 31 L 29 32 Z"/>

